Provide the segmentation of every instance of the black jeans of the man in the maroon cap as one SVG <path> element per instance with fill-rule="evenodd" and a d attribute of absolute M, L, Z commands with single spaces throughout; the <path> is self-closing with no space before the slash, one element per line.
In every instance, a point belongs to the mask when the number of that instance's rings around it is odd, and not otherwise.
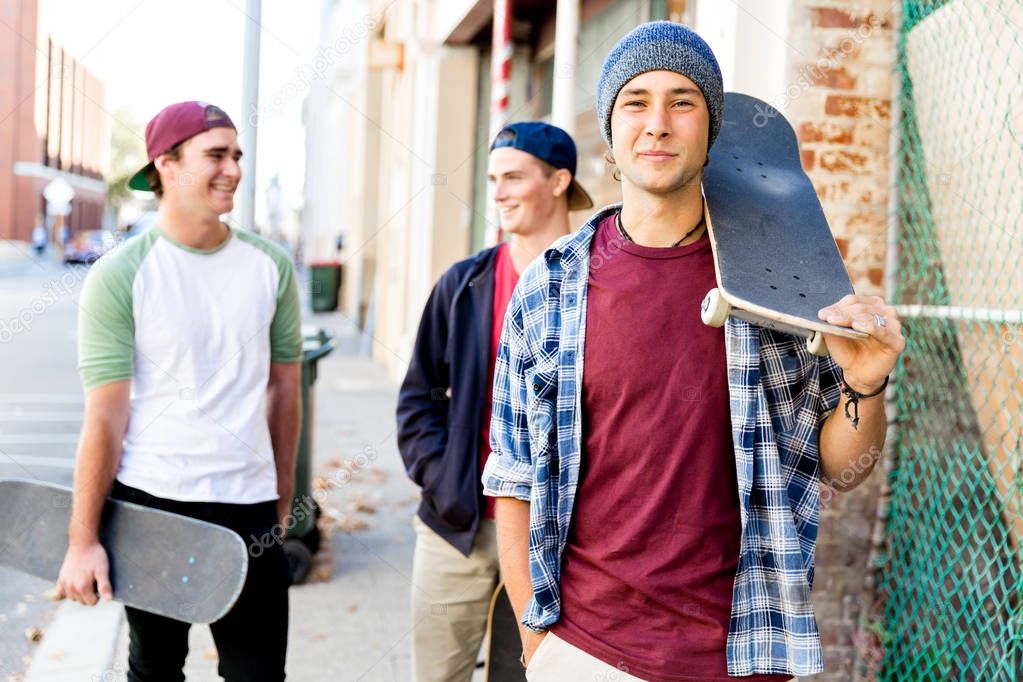
<path fill-rule="evenodd" d="M 267 538 L 277 524 L 276 502 L 223 504 L 179 502 L 115 482 L 110 496 L 217 524 L 241 536 Z M 279 542 L 250 552 L 249 575 L 227 616 L 210 625 L 225 682 L 280 682 L 287 648 L 287 588 L 291 574 Z M 128 682 L 183 682 L 190 623 L 126 606 L 130 643 Z"/>

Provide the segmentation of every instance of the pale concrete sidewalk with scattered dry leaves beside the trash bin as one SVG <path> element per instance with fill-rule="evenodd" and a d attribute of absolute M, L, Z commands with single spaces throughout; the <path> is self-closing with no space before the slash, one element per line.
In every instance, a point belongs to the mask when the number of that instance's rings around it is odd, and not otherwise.
<path fill-rule="evenodd" d="M 305 321 L 332 329 L 340 342 L 319 362 L 314 399 L 313 470 L 326 491 L 324 516 L 332 537 L 325 539 L 310 581 L 291 591 L 287 678 L 406 682 L 411 518 L 418 490 L 405 476 L 395 445 L 397 388 L 377 365 L 355 355 L 359 337 L 344 316 L 310 315 Z M 73 606 L 61 606 L 26 680 L 124 680 L 127 633 L 120 607 L 114 606 L 118 615 L 110 619 L 108 611 L 83 615 L 90 609 Z M 74 628 L 65 627 L 69 618 L 76 619 Z M 76 653 L 76 644 L 85 650 Z M 187 680 L 219 680 L 207 626 L 192 627 L 191 644 Z M 114 655 L 97 668 L 101 650 Z"/>

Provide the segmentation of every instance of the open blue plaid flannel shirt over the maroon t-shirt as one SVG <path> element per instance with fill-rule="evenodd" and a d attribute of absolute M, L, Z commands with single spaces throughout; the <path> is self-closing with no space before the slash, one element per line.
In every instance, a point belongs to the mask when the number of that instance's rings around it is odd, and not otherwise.
<path fill-rule="evenodd" d="M 523 273 L 494 374 L 484 494 L 530 503 L 533 598 L 523 623 L 561 616 L 561 559 L 579 483 L 590 241 L 619 206 L 597 212 Z M 841 369 L 802 338 L 728 318 L 731 433 L 742 517 L 728 674 L 824 670 L 810 586 L 819 518 L 818 436 L 838 405 Z M 623 371 L 627 368 L 623 367 Z M 653 426 L 653 425 L 652 425 Z"/>

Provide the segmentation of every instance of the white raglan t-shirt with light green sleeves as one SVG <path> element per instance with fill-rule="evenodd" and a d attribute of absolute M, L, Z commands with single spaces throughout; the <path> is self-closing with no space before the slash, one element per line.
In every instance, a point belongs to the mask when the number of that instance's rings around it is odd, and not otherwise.
<path fill-rule="evenodd" d="M 79 306 L 85 390 L 131 380 L 121 483 L 157 497 L 277 498 L 266 418 L 270 363 L 302 359 L 295 271 L 230 230 L 210 251 L 153 227 L 99 259 Z"/>

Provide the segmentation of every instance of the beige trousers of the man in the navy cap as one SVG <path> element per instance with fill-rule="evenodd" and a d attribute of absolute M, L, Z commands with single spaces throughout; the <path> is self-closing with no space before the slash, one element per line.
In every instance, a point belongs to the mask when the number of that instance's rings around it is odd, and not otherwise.
<path fill-rule="evenodd" d="M 483 519 L 473 553 L 465 556 L 418 516 L 412 525 L 413 680 L 469 682 L 497 586 L 497 529 Z"/>

